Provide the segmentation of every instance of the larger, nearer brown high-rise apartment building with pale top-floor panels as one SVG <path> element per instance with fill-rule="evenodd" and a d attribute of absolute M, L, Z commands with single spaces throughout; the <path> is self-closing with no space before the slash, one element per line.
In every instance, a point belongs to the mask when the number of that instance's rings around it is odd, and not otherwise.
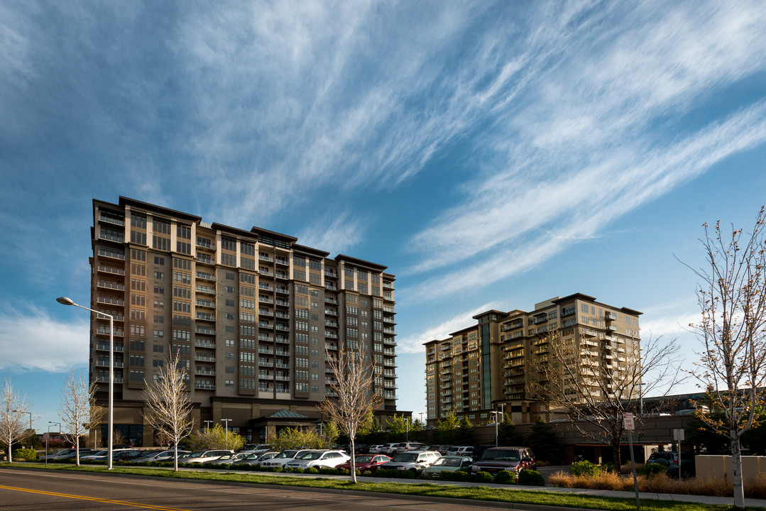
<path fill-rule="evenodd" d="M 252 441 L 313 424 L 332 397 L 326 349 L 375 360 L 378 416 L 396 411 L 394 276 L 261 228 L 209 224 L 130 198 L 93 201 L 91 308 L 114 316 L 116 429 L 152 445 L 143 389 L 177 352 L 197 427 Z M 109 322 L 93 315 L 90 378 L 106 401 Z M 106 434 L 106 425 L 102 434 Z"/>

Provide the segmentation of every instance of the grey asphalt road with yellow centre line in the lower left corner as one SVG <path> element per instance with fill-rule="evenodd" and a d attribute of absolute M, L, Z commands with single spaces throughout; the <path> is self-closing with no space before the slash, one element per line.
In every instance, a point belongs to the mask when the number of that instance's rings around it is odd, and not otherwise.
<path fill-rule="evenodd" d="M 312 511 L 462 511 L 486 509 L 486 503 L 457 505 L 358 496 L 310 489 L 282 490 L 263 486 L 195 483 L 185 480 L 144 480 L 117 474 L 0 470 L 0 511 L 244 511 L 311 509 Z"/>

